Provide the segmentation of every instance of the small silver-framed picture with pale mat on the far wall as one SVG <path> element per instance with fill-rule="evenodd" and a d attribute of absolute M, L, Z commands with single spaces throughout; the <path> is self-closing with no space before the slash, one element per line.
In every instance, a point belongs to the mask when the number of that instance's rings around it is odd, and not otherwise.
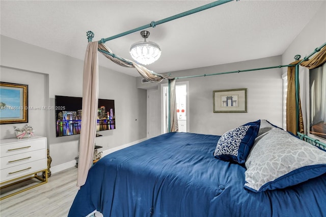
<path fill-rule="evenodd" d="M 246 113 L 247 88 L 213 91 L 214 113 Z"/>

